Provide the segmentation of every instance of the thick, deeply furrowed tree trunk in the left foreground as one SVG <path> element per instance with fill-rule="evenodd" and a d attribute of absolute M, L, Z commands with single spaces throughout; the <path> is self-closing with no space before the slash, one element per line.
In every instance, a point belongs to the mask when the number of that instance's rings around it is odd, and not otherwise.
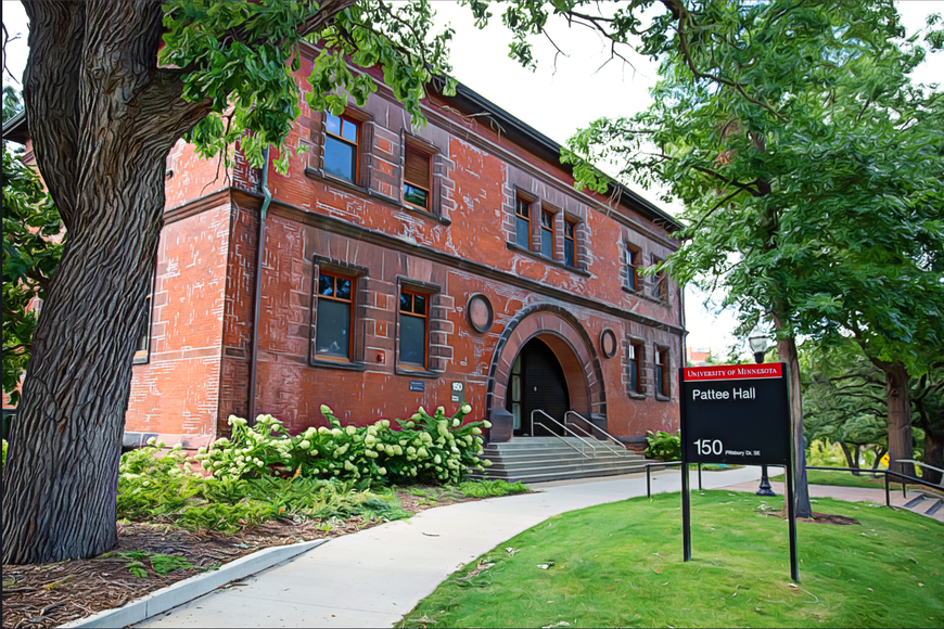
<path fill-rule="evenodd" d="M 156 67 L 160 2 L 25 2 L 34 150 L 68 241 L 33 339 L 3 475 L 3 562 L 113 548 L 135 341 L 164 171 L 205 105 Z"/>

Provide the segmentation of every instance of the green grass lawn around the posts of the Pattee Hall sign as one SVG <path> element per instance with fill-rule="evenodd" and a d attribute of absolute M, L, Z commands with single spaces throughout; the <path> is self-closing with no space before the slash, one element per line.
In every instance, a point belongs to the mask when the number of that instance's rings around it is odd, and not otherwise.
<path fill-rule="evenodd" d="M 552 517 L 439 585 L 405 627 L 944 627 L 944 525 L 816 499 L 860 525 L 798 523 L 790 580 L 782 498 L 678 493 Z M 547 566 L 543 569 L 539 566 Z"/>

